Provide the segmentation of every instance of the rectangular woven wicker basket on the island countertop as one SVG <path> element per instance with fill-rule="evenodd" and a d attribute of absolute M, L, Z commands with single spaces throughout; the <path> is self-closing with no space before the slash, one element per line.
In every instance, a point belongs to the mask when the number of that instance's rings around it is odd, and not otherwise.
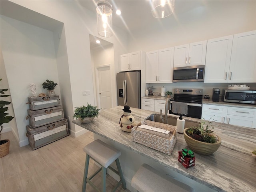
<path fill-rule="evenodd" d="M 148 132 L 138 130 L 138 126 L 140 124 L 146 124 L 149 126 L 154 126 L 157 128 L 162 128 L 165 130 L 169 130 L 171 132 L 170 138 L 166 139 L 161 136 L 157 136 L 156 134 L 150 134 Z M 163 152 L 167 155 L 172 154 L 172 150 L 177 140 L 176 136 L 176 126 L 153 122 L 149 120 L 143 120 L 140 124 L 132 128 L 132 141 L 142 144 L 144 146 L 150 147 L 152 149 Z M 154 131 L 152 131 L 153 133 Z"/>

